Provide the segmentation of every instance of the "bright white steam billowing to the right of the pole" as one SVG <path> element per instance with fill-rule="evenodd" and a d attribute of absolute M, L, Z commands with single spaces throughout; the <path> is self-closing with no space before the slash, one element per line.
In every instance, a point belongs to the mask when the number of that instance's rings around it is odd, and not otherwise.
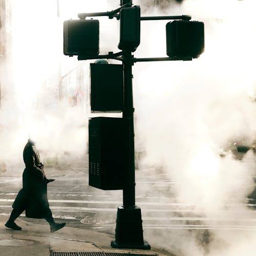
<path fill-rule="evenodd" d="M 143 1 L 139 4 L 143 9 Z M 254 153 L 249 151 L 242 161 L 230 151 L 220 155 L 241 138 L 250 145 L 255 140 L 255 7 L 253 1 L 187 0 L 162 12 L 152 8 L 143 13 L 187 14 L 205 24 L 205 52 L 199 59 L 137 63 L 134 95 L 136 141 L 146 148 L 141 164 L 163 166 L 177 182 L 178 202 L 206 217 L 239 219 L 238 212 L 244 218 L 252 214 L 245 204 L 254 188 Z M 165 56 L 166 22 L 143 23 L 136 54 Z M 184 255 L 255 253 L 253 231 L 210 230 L 204 242 L 206 235 L 199 238 L 199 232 L 177 235 L 170 232 L 165 245 Z"/>

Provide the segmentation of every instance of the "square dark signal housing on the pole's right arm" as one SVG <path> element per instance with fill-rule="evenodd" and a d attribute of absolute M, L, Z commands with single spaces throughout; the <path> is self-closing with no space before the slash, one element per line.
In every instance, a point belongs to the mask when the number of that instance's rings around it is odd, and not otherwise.
<path fill-rule="evenodd" d="M 198 58 L 203 52 L 203 22 L 174 20 L 166 24 L 166 53 L 169 57 Z"/>

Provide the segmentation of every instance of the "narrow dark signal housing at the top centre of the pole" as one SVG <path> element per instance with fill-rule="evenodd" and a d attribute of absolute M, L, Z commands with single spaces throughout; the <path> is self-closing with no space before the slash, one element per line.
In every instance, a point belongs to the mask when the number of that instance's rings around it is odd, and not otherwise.
<path fill-rule="evenodd" d="M 140 44 L 140 7 L 127 7 L 120 10 L 120 50 L 134 52 Z"/>

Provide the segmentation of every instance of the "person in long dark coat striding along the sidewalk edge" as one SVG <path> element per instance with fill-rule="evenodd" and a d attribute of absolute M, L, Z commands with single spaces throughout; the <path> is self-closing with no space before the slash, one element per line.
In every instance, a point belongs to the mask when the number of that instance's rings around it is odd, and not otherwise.
<path fill-rule="evenodd" d="M 14 221 L 26 210 L 28 218 L 45 218 L 50 224 L 51 232 L 64 227 L 66 223 L 58 224 L 53 220 L 47 198 L 47 184 L 54 180 L 46 178 L 44 165 L 40 162 L 38 151 L 30 139 L 24 148 L 23 159 L 26 165 L 23 172 L 23 188 L 12 205 L 13 210 L 5 226 L 14 230 L 22 229 Z"/>

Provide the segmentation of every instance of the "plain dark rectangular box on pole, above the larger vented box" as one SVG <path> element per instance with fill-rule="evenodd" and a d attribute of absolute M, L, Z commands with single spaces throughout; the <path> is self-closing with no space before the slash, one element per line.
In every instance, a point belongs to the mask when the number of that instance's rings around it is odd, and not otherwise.
<path fill-rule="evenodd" d="M 123 65 L 91 63 L 91 111 L 122 110 Z"/>

